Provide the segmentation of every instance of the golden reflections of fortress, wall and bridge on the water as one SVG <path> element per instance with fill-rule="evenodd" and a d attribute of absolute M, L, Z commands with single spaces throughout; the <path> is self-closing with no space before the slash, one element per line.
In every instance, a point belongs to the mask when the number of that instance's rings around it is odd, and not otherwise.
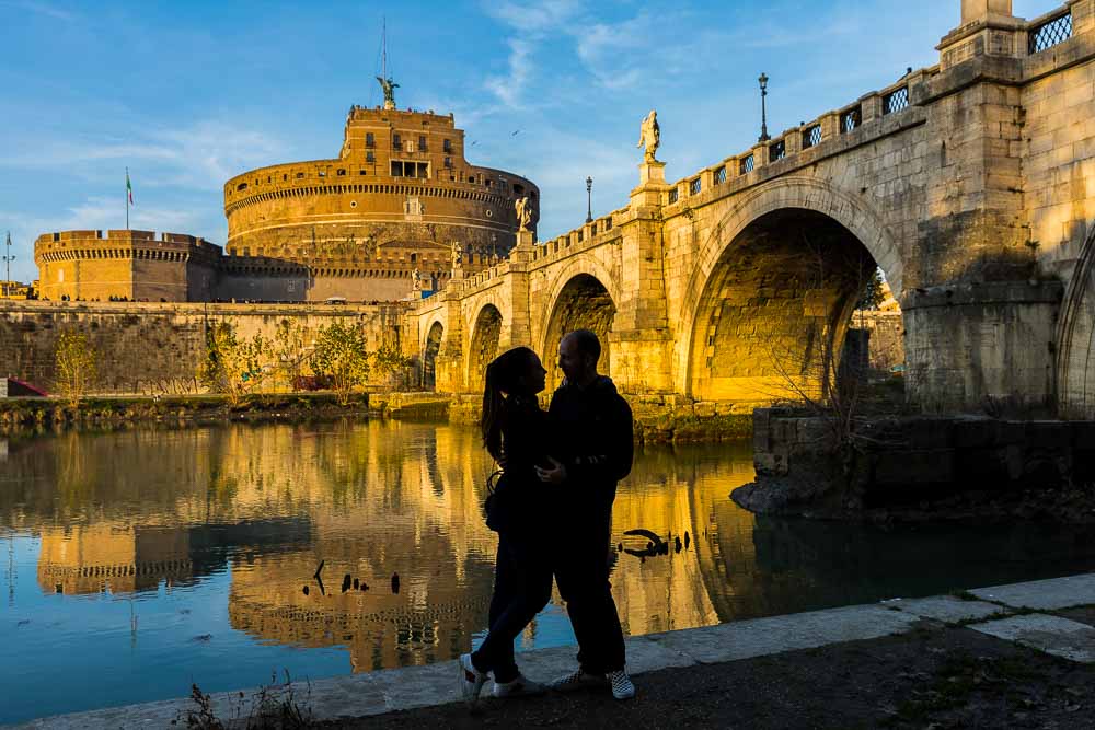
<path fill-rule="evenodd" d="M 0 514 L 41 536 L 43 592 L 147 595 L 227 571 L 232 627 L 260 641 L 344 646 L 357 671 L 449 659 L 486 627 L 496 535 L 482 517 L 492 464 L 474 429 L 369 421 L 64 434 L 12 444 L 4 466 Z M 765 594 L 749 589 L 753 518 L 727 498 L 751 477 L 740 448 L 637 454 L 613 524 L 626 631 L 762 613 L 737 595 Z M 689 547 L 620 552 L 646 547 L 623 534 L 633 529 L 688 532 Z M 313 577 L 321 560 L 323 590 Z M 347 575 L 369 590 L 344 592 Z M 553 604 L 562 606 L 557 594 Z M 526 646 L 542 644 L 540 630 L 530 626 Z"/>

